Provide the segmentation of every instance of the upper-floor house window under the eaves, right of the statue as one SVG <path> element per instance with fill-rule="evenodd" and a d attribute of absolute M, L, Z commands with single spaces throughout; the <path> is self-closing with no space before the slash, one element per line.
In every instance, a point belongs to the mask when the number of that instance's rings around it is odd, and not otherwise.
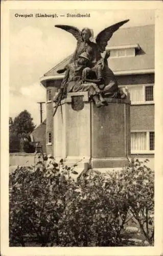
<path fill-rule="evenodd" d="M 123 88 L 124 86 L 119 86 Z M 153 85 L 137 84 L 125 86 L 130 94 L 131 104 L 149 104 L 154 103 Z"/>

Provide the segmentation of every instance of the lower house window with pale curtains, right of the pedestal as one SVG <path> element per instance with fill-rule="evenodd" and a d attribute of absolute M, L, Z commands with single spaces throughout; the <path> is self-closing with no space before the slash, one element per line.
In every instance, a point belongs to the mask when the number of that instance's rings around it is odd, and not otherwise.
<path fill-rule="evenodd" d="M 154 132 L 131 132 L 131 154 L 154 151 Z"/>

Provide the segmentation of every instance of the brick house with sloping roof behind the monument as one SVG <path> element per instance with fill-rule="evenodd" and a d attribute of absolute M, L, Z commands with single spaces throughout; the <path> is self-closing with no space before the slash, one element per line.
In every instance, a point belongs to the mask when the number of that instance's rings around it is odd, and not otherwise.
<path fill-rule="evenodd" d="M 154 169 L 154 25 L 119 29 L 109 41 L 108 65 L 131 99 L 131 155 L 150 159 Z M 46 89 L 46 153 L 53 154 L 53 97 L 71 56 L 41 77 Z"/>

